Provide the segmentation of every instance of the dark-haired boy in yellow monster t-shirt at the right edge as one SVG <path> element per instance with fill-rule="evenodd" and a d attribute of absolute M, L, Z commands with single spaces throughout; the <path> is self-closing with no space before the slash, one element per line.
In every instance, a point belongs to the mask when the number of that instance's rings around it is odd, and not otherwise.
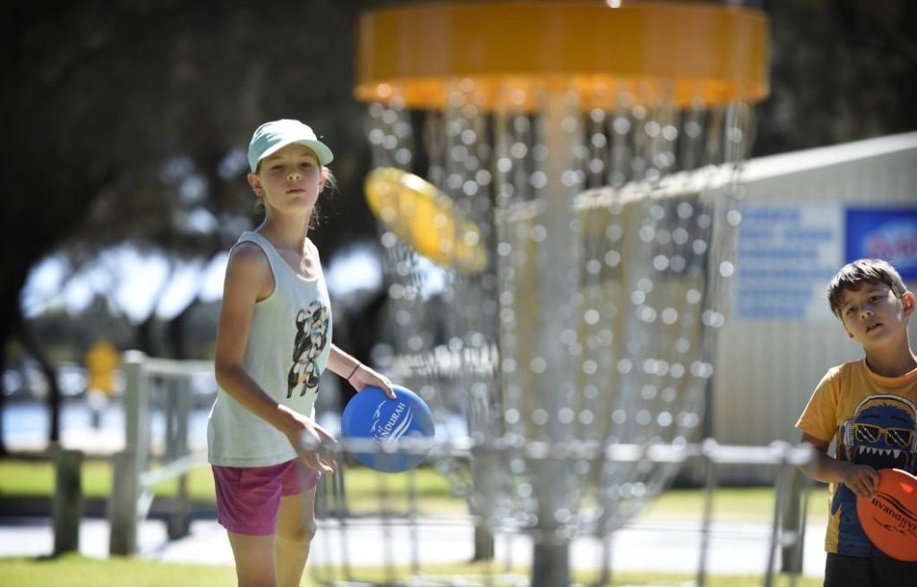
<path fill-rule="evenodd" d="M 917 562 L 882 554 L 856 517 L 856 496 L 876 493 L 877 469 L 917 470 L 917 356 L 907 328 L 914 295 L 894 267 L 878 259 L 844 266 L 827 293 L 834 315 L 866 356 L 831 368 L 796 423 L 816 453 L 805 473 L 831 484 L 824 585 L 917 584 Z M 834 456 L 827 452 L 832 440 Z"/>

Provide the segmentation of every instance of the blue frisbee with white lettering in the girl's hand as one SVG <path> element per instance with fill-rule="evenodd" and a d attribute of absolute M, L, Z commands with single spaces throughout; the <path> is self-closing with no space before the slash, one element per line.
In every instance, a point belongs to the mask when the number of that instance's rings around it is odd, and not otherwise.
<path fill-rule="evenodd" d="M 379 451 L 353 454 L 370 469 L 383 473 L 401 473 L 420 464 L 425 453 L 398 451 L 398 443 L 411 438 L 432 439 L 436 429 L 433 414 L 420 396 L 405 387 L 393 387 L 394 399 L 379 387 L 365 387 L 350 398 L 341 416 L 341 435 L 345 439 L 379 443 Z"/>

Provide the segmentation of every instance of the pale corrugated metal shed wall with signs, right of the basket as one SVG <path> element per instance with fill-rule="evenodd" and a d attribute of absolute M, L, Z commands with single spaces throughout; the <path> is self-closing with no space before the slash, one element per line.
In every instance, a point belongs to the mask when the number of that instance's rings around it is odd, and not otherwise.
<path fill-rule="evenodd" d="M 878 256 L 917 290 L 917 133 L 752 159 L 743 184 L 708 430 L 724 444 L 797 442 L 794 425 L 825 371 L 863 356 L 828 309 L 836 270 Z M 917 320 L 910 332 L 913 345 Z"/>

